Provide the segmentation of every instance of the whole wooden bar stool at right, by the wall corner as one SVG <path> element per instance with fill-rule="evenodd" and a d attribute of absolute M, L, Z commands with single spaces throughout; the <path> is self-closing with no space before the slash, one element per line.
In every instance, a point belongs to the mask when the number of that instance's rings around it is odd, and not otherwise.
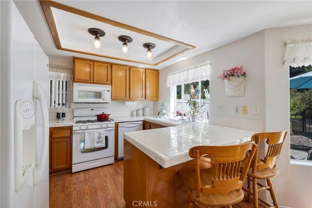
<path fill-rule="evenodd" d="M 271 183 L 270 178 L 275 177 L 279 170 L 276 167 L 277 161 L 280 155 L 280 152 L 283 147 L 283 143 L 285 141 L 287 132 L 263 132 L 263 133 L 256 133 L 252 136 L 252 141 L 254 141 L 258 148 L 255 151 L 254 159 L 251 165 L 251 169 L 247 173 L 247 189 L 244 189 L 247 192 L 247 199 L 248 202 L 251 203 L 251 195 L 254 197 L 254 207 L 258 208 L 258 201 L 262 202 L 268 207 L 275 207 L 278 208 L 278 204 L 276 202 L 276 196 L 273 190 L 273 186 Z M 266 156 L 263 159 L 258 159 L 258 149 L 259 143 L 262 139 L 266 139 L 266 143 L 268 144 L 268 151 Z M 247 163 L 242 164 L 241 171 L 243 172 L 246 166 L 250 166 Z M 267 185 L 262 185 L 257 182 L 257 179 L 266 179 Z M 253 182 L 253 191 L 251 190 L 251 182 Z M 259 186 L 259 188 L 258 188 Z M 273 205 L 265 202 L 264 200 L 258 197 L 258 191 L 261 190 L 269 190 L 271 198 L 273 200 Z"/>

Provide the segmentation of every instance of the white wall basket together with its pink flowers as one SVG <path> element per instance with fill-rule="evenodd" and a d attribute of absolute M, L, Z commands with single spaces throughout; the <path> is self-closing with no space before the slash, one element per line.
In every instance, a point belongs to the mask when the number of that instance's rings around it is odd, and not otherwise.
<path fill-rule="evenodd" d="M 223 73 L 217 76 L 218 81 L 222 80 L 226 97 L 241 97 L 245 93 L 246 73 L 241 67 L 235 66 L 229 70 L 223 69 Z"/>

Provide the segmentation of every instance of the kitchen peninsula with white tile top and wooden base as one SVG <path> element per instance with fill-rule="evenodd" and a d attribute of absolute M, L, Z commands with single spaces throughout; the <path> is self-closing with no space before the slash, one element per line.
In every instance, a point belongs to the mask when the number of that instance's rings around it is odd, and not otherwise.
<path fill-rule="evenodd" d="M 176 173 L 195 168 L 190 148 L 240 144 L 254 133 L 207 122 L 124 133 L 126 207 L 135 207 L 138 201 L 146 207 L 184 207 L 188 194 Z"/>

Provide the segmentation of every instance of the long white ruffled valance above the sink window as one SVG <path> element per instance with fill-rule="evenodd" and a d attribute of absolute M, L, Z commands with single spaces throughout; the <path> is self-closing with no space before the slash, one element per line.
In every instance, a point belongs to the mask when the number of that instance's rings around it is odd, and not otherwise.
<path fill-rule="evenodd" d="M 210 68 L 211 64 L 209 63 L 174 74 L 169 74 L 167 77 L 167 87 L 210 79 Z"/>

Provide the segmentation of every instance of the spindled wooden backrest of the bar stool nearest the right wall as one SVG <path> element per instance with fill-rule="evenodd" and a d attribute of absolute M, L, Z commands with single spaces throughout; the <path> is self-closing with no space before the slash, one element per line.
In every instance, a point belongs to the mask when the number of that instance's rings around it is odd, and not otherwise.
<path fill-rule="evenodd" d="M 258 149 L 256 150 L 252 163 L 253 173 L 255 173 L 256 170 L 263 170 L 265 168 L 272 169 L 276 166 L 286 135 L 287 132 L 284 130 L 282 132 L 256 133 L 252 136 L 252 141 L 258 145 L 258 148 L 262 139 L 266 139 L 266 143 L 269 145 L 268 151 L 263 159 L 258 159 Z"/>

